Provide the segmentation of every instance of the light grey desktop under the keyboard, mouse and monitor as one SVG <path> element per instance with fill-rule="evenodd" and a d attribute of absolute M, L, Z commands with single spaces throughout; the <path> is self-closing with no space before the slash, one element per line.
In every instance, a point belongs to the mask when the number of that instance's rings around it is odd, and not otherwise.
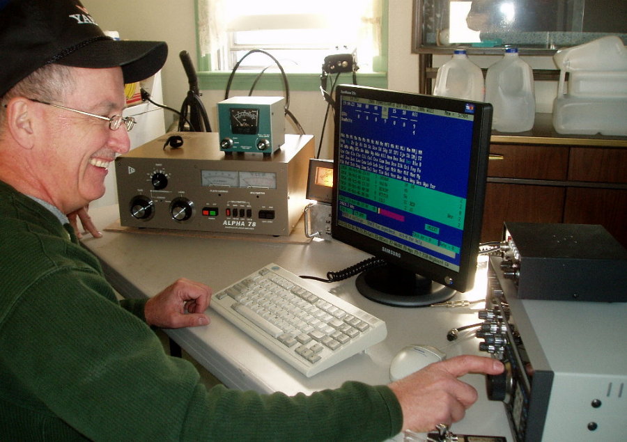
<path fill-rule="evenodd" d="M 100 229 L 119 217 L 117 206 L 98 207 L 90 213 Z M 369 256 L 336 241 L 276 244 L 250 242 L 245 235 L 242 238 L 203 239 L 104 231 L 100 239 L 86 237 L 84 245 L 100 258 L 111 285 L 123 296 L 136 299 L 153 296 L 180 276 L 206 283 L 217 291 L 268 262 L 276 262 L 295 274 L 324 276 L 329 270 L 343 269 Z M 319 284 L 385 320 L 388 336 L 364 354 L 309 379 L 212 310 L 209 310 L 209 326 L 167 333 L 226 386 L 261 393 L 280 390 L 290 395 L 335 388 L 347 380 L 387 384 L 389 363 L 405 345 L 433 345 L 448 356 L 479 354 L 479 340 L 470 338 L 470 334 L 462 332 L 467 339 L 448 347 L 450 342 L 446 335 L 453 327 L 479 322 L 477 310 L 481 303 L 473 308 L 403 309 L 361 297 L 355 289 L 354 278 Z M 483 299 L 485 290 L 485 278 L 479 278 L 475 290 L 461 296 Z M 464 380 L 477 388 L 479 402 L 467 411 L 463 421 L 454 425 L 454 432 L 506 436 L 512 441 L 503 405 L 486 398 L 484 377 L 470 374 Z"/>

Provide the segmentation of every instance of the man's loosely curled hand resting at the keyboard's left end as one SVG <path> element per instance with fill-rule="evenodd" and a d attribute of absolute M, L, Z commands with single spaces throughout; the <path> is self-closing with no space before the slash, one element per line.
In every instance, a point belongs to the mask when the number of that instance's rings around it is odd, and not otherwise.
<path fill-rule="evenodd" d="M 163 329 L 180 329 L 209 324 L 204 311 L 209 307 L 208 285 L 180 278 L 155 297 L 144 308 L 146 322 Z"/>

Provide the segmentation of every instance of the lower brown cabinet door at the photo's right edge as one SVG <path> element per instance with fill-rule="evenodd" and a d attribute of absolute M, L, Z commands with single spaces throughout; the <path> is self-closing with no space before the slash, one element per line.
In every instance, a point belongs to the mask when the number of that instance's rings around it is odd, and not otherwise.
<path fill-rule="evenodd" d="M 627 248 L 627 190 L 568 188 L 564 222 L 601 224 Z"/>

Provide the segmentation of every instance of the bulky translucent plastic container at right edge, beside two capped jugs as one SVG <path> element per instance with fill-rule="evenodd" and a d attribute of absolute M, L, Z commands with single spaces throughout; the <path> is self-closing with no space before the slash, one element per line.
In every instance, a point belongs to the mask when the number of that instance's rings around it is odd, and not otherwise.
<path fill-rule="evenodd" d="M 553 102 L 559 134 L 627 136 L 627 49 L 614 35 L 559 50 Z M 568 90 L 566 90 L 568 72 Z"/>

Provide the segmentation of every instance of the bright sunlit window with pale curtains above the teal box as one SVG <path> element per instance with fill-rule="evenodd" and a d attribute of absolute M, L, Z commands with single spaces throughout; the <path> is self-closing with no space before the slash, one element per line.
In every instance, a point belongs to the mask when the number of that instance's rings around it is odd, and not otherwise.
<path fill-rule="evenodd" d="M 320 74 L 325 56 L 357 55 L 359 74 L 385 71 L 384 0 L 197 0 L 200 55 L 212 71 L 230 71 L 251 49 L 277 58 L 288 73 Z M 276 72 L 272 59 L 251 54 L 238 70 Z"/>

